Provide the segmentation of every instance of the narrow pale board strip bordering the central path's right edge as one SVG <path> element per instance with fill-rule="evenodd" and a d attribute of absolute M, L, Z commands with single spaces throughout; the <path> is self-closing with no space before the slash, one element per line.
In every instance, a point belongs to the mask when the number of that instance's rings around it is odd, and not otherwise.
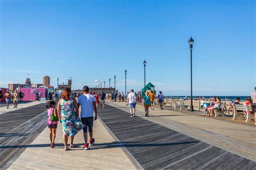
<path fill-rule="evenodd" d="M 104 128 L 106 128 L 107 132 L 110 133 L 110 135 L 112 136 L 112 138 L 116 141 L 118 141 L 118 145 L 120 146 L 120 148 L 123 150 L 123 152 L 126 154 L 126 156 L 131 160 L 132 164 L 137 168 L 137 169 L 144 169 L 142 167 L 142 165 L 139 164 L 139 162 L 133 157 L 133 155 L 130 153 L 130 151 L 127 150 L 127 148 L 124 146 L 124 144 L 122 144 L 120 142 L 120 140 L 116 137 L 116 135 L 114 135 L 114 133 L 109 129 L 109 127 L 107 127 L 107 125 L 102 121 L 102 119 L 100 119 L 100 117 L 98 116 L 99 122 L 102 123 L 102 125 L 104 126 Z"/>

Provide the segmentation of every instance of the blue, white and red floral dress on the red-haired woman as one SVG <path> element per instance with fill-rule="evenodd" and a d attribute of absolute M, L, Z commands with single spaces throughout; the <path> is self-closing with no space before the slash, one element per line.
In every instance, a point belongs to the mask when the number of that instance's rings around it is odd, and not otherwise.
<path fill-rule="evenodd" d="M 68 137 L 75 136 L 78 131 L 83 129 L 83 124 L 80 118 L 76 115 L 73 100 L 60 101 L 61 108 L 61 123 L 63 133 Z"/>

